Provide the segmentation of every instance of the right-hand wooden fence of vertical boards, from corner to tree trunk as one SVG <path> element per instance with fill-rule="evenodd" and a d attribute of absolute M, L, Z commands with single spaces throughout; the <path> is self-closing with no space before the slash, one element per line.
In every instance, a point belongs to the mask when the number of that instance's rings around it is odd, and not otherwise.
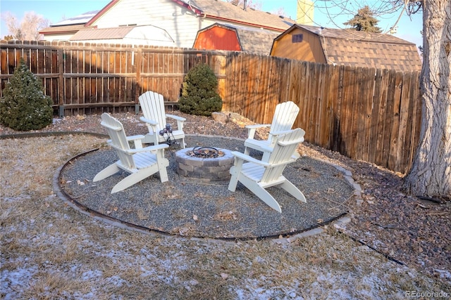
<path fill-rule="evenodd" d="M 405 173 L 419 143 L 419 72 L 229 53 L 223 110 L 271 123 L 279 102 L 299 108 L 306 141 Z M 235 79 L 235 80 L 231 80 Z"/>

